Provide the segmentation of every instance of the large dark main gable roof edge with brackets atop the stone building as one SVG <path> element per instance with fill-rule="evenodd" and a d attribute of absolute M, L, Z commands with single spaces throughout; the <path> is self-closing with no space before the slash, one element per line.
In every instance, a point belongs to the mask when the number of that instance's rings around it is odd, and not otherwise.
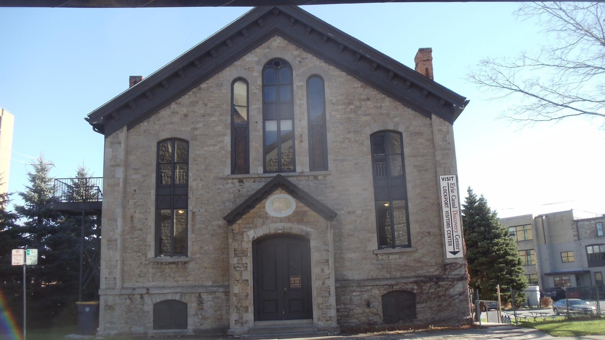
<path fill-rule="evenodd" d="M 256 7 L 103 104 L 85 120 L 106 136 L 123 126 L 131 129 L 275 35 L 426 117 L 435 114 L 453 123 L 468 103 L 462 95 L 301 8 Z"/>

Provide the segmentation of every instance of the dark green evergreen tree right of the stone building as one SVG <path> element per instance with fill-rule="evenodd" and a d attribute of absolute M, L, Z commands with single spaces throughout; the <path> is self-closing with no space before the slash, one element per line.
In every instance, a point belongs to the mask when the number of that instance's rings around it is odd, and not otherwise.
<path fill-rule="evenodd" d="M 500 284 L 503 300 L 510 300 L 510 289 L 527 287 L 525 270 L 517 249 L 517 243 L 509 237 L 495 211 L 481 195 L 468 188 L 468 196 L 462 205 L 462 222 L 466 242 L 466 261 L 471 277 L 469 285 L 479 289 L 480 298 L 495 300 L 496 285 Z M 508 293 L 508 294 L 507 294 Z M 523 299 L 524 294 L 518 298 Z M 517 303 L 517 295 L 515 295 Z"/>

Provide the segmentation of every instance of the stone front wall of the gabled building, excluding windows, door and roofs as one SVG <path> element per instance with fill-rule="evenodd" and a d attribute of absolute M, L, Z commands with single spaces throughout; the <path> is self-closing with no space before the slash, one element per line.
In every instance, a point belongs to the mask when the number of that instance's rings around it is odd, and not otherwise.
<path fill-rule="evenodd" d="M 296 201 L 287 217 L 261 202 L 229 225 L 223 216 L 275 174 L 263 173 L 263 65 L 282 58 L 293 68 L 296 172 L 283 173 L 338 215 L 332 221 Z M 309 171 L 307 90 L 325 83 L 328 170 Z M 250 174 L 231 175 L 231 84 L 249 84 Z M 370 135 L 403 135 L 411 248 L 378 249 Z M 157 143 L 189 142 L 186 257 L 155 255 Z M 307 53 L 270 37 L 211 79 L 142 123 L 106 136 L 103 170 L 100 335 L 230 333 L 255 324 L 252 243 L 274 234 L 310 240 L 313 324 L 338 332 L 384 325 L 381 296 L 416 294 L 408 324 L 468 322 L 464 259 L 445 258 L 439 175 L 456 174 L 453 127 L 427 118 Z M 286 193 L 277 189 L 275 193 Z M 153 306 L 187 303 L 188 329 L 153 330 Z"/>

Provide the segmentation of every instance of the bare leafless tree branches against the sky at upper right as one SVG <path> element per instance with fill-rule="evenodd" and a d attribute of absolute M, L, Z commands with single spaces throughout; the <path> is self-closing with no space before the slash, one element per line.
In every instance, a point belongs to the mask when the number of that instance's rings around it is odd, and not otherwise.
<path fill-rule="evenodd" d="M 596 118 L 605 129 L 605 3 L 528 2 L 515 11 L 537 18 L 551 42 L 515 59 L 483 59 L 468 80 L 515 104 L 502 115 L 523 124 Z"/>

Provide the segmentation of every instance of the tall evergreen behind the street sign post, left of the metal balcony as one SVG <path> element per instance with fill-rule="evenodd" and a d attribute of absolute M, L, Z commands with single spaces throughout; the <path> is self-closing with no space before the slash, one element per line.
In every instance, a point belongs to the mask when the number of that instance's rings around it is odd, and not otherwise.
<path fill-rule="evenodd" d="M 28 267 L 28 325 L 49 326 L 62 313 L 73 315 L 77 301 L 79 227 L 53 210 L 52 162 L 38 158 L 29 185 L 15 207 L 24 220 L 27 248 L 38 249 L 38 265 Z M 75 294 L 74 294 L 75 292 Z"/>

